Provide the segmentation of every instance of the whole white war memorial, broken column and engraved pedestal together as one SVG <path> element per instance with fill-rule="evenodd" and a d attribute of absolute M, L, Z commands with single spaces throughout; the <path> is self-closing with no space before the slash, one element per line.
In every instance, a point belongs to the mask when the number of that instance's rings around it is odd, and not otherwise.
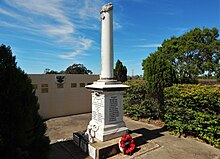
<path fill-rule="evenodd" d="M 113 5 L 105 4 L 101 14 L 101 75 L 100 79 L 86 88 L 92 92 L 92 120 L 87 135 L 107 141 L 128 133 L 123 121 L 123 93 L 127 85 L 114 80 L 113 75 Z"/>

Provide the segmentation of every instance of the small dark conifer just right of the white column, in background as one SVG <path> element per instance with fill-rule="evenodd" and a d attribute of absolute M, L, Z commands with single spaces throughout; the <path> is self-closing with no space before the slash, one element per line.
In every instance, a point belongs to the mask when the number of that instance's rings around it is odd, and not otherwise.
<path fill-rule="evenodd" d="M 120 60 L 117 60 L 115 69 L 114 69 L 114 76 L 118 81 L 125 82 L 127 81 L 127 68 L 123 66 Z"/>

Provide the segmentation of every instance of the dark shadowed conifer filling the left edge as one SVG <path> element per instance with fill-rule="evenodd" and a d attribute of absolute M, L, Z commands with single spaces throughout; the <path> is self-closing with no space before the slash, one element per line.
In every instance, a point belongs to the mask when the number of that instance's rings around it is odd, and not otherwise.
<path fill-rule="evenodd" d="M 49 152 L 46 125 L 31 80 L 15 62 L 10 47 L 0 46 L 0 158 L 44 159 Z"/>

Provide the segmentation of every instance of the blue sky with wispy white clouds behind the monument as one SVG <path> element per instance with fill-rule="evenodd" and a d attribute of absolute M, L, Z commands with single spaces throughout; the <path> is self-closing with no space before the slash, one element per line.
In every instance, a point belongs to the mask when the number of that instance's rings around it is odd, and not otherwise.
<path fill-rule="evenodd" d="M 99 12 L 106 0 L 1 0 L 0 42 L 10 45 L 26 73 L 82 63 L 101 69 Z M 113 0 L 114 59 L 129 75 L 164 39 L 195 27 L 220 30 L 219 0 Z"/>

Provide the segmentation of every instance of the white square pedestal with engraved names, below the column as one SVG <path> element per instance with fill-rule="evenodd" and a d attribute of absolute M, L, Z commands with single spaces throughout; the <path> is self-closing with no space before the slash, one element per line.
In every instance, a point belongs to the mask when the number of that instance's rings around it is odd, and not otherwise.
<path fill-rule="evenodd" d="M 123 94 L 128 86 L 116 81 L 97 81 L 86 86 L 92 91 L 92 137 L 107 141 L 127 133 L 123 121 Z"/>

